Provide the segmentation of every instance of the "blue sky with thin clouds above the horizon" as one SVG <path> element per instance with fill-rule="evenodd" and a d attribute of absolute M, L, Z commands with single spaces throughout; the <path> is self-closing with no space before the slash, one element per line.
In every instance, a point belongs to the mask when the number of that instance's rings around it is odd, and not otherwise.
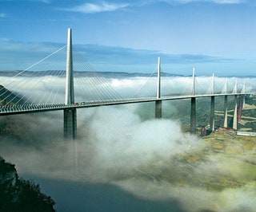
<path fill-rule="evenodd" d="M 0 70 L 66 44 L 97 71 L 256 76 L 254 0 L 0 0 Z"/>

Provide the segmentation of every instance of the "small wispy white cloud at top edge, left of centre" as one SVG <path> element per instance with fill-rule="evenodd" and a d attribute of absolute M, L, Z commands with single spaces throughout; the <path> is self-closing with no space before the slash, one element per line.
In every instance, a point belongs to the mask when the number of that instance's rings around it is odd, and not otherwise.
<path fill-rule="evenodd" d="M 111 11 L 119 10 L 119 9 L 125 8 L 126 6 L 128 6 L 128 4 L 113 4 L 109 2 L 102 2 L 99 4 L 84 3 L 80 6 L 74 6 L 69 9 L 66 8 L 62 10 L 80 12 L 84 14 L 95 14 L 95 13 L 111 12 Z"/>

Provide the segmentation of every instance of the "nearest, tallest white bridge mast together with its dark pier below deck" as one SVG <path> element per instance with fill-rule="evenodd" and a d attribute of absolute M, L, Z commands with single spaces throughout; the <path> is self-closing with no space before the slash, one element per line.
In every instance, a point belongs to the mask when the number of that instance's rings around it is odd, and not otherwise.
<path fill-rule="evenodd" d="M 66 99 L 65 104 L 74 104 L 74 73 L 72 55 L 72 34 L 71 29 L 67 33 L 66 50 Z M 64 137 L 76 139 L 77 135 L 77 112 L 75 108 L 64 109 Z"/>

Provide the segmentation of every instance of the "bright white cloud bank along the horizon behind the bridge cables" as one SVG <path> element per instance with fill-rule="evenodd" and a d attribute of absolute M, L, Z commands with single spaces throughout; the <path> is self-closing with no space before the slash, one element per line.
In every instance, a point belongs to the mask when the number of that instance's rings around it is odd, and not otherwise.
<path fill-rule="evenodd" d="M 38 71 L 30 77 L 0 77 L 5 88 L 15 92 L 23 100 L 33 104 L 54 104 L 65 101 L 65 76 L 38 76 Z M 34 75 L 33 75 L 34 74 Z M 64 74 L 64 72 L 62 72 Z M 210 94 L 213 88 L 212 77 L 196 77 L 195 94 Z M 255 90 L 255 77 L 214 77 L 214 93 L 242 92 L 245 83 L 246 91 Z M 192 77 L 162 77 L 162 96 L 182 96 L 192 93 Z M 155 97 L 157 77 L 75 77 L 74 100 L 88 102 L 92 100 L 125 100 L 129 98 Z"/>

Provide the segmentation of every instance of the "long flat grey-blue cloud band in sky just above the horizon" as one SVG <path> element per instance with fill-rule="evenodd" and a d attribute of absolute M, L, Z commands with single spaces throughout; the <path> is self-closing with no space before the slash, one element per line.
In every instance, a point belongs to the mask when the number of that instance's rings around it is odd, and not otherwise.
<path fill-rule="evenodd" d="M 54 53 L 66 44 L 61 43 L 23 43 L 17 41 L 2 41 L 0 51 L 2 56 L 1 70 L 21 70 Z M 97 71 L 117 71 L 128 73 L 151 73 L 157 64 L 158 57 L 162 58 L 162 67 L 165 72 L 178 73 L 174 67 L 186 65 L 188 69 L 197 65 L 235 63 L 242 61 L 239 58 L 216 57 L 200 54 L 172 54 L 162 53 L 158 50 L 130 49 L 118 46 L 104 45 L 74 45 L 74 55 L 81 59 L 86 58 Z M 44 69 L 60 69 L 66 65 L 66 51 L 58 52 L 50 57 L 52 64 Z M 54 61 L 55 59 L 55 61 Z M 81 65 L 81 60 L 74 57 L 74 65 Z M 85 59 L 83 59 L 85 61 Z M 55 65 L 58 65 L 55 67 Z M 57 68 L 58 67 L 58 68 Z M 180 68 L 179 68 L 180 69 Z M 187 73 L 187 70 L 183 73 Z M 84 71 L 84 70 L 82 70 Z"/>

